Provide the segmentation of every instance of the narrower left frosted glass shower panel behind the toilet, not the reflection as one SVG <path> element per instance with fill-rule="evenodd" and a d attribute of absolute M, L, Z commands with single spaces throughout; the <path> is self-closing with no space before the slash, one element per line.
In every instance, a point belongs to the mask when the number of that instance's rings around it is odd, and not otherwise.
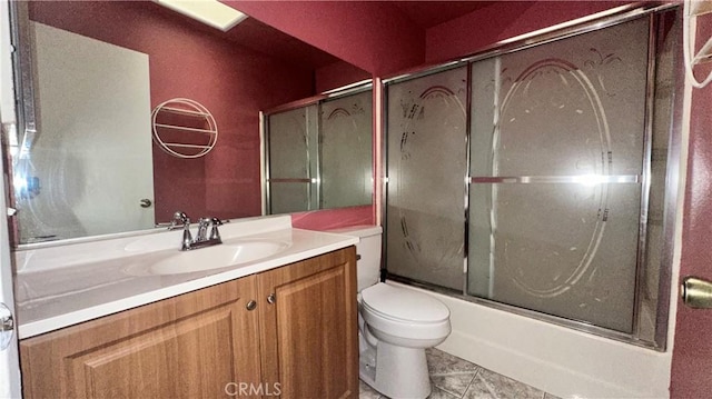
<path fill-rule="evenodd" d="M 388 86 L 388 272 L 463 288 L 466 68 Z"/>

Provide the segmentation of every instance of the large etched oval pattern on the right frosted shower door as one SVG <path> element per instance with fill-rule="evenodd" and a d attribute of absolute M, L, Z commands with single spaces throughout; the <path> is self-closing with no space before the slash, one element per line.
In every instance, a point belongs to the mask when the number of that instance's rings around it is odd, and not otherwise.
<path fill-rule="evenodd" d="M 600 93 L 586 73 L 573 63 L 562 59 L 537 61 L 508 89 L 495 136 L 498 142 L 492 167 L 495 176 L 591 177 L 591 183 L 584 182 L 583 187 L 557 187 L 555 192 L 560 196 L 551 196 L 551 188 L 540 192 L 540 198 L 551 197 L 547 203 L 552 208 L 547 212 L 520 203 L 526 202 L 528 196 L 506 196 L 511 200 L 498 203 L 498 225 L 503 230 L 510 230 L 503 225 L 516 225 L 520 232 L 516 238 L 505 237 L 498 245 L 501 266 L 528 293 L 558 296 L 584 276 L 605 230 L 609 187 L 594 182 L 610 174 L 613 159 Z M 541 152 L 531 151 L 532 140 L 553 153 L 566 156 L 542 159 Z M 565 203 L 558 203 L 561 197 Z M 568 203 L 575 203 L 575 209 Z M 562 223 L 567 227 L 556 228 Z M 552 262 L 554 267 L 542 269 L 526 261 L 531 257 L 556 257 L 557 261 Z"/>

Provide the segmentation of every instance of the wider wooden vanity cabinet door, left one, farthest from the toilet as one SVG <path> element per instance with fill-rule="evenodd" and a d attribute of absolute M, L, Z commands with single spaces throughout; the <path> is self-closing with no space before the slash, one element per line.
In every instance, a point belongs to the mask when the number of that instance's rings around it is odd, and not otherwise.
<path fill-rule="evenodd" d="M 27 398 L 218 398 L 258 387 L 255 277 L 20 343 Z M 248 392 L 248 391 L 246 391 Z"/>

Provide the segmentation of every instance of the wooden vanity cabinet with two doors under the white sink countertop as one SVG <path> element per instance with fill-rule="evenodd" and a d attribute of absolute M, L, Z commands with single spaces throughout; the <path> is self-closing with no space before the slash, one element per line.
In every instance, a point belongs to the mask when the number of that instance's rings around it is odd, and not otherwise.
<path fill-rule="evenodd" d="M 356 398 L 354 247 L 20 341 L 26 398 Z"/>

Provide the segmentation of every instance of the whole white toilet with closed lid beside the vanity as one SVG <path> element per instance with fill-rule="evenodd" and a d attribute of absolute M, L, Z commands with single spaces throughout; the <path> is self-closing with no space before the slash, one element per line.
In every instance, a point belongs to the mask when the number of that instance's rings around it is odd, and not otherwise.
<path fill-rule="evenodd" d="M 449 309 L 423 292 L 379 282 L 380 227 L 334 232 L 360 239 L 356 245 L 360 379 L 393 399 L 427 398 L 425 349 L 449 335 Z"/>

